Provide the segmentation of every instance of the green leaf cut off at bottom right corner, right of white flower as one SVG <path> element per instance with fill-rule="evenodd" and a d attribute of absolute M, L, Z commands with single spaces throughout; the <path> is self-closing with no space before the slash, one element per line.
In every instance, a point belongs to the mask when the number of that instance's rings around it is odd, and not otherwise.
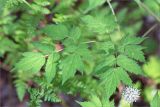
<path fill-rule="evenodd" d="M 151 107 L 159 107 L 160 106 L 160 96 L 158 95 L 158 92 L 153 97 L 153 100 L 150 103 Z"/>

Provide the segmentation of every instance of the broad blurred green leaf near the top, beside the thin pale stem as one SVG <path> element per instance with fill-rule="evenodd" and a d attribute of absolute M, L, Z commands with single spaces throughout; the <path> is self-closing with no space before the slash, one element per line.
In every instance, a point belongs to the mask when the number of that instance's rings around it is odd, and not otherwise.
<path fill-rule="evenodd" d="M 102 35 L 112 33 L 116 29 L 117 25 L 112 20 L 113 18 L 113 15 L 105 13 L 105 11 L 97 11 L 96 14 L 85 15 L 81 19 L 88 31 Z"/>

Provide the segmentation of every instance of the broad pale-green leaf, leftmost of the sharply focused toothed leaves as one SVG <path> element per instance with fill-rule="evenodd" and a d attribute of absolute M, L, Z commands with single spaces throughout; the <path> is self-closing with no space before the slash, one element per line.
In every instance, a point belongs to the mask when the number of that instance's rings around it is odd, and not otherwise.
<path fill-rule="evenodd" d="M 37 73 L 44 63 L 45 57 L 41 53 L 26 52 L 23 54 L 23 58 L 15 65 L 15 69 Z"/>

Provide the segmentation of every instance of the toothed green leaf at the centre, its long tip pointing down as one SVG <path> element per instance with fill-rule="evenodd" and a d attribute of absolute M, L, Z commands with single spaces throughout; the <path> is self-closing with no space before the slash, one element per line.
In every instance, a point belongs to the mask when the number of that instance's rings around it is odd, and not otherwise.
<path fill-rule="evenodd" d="M 75 75 L 76 70 L 81 70 L 83 68 L 82 59 L 78 54 L 71 54 L 62 60 L 61 68 L 63 84 L 66 80 Z"/>

